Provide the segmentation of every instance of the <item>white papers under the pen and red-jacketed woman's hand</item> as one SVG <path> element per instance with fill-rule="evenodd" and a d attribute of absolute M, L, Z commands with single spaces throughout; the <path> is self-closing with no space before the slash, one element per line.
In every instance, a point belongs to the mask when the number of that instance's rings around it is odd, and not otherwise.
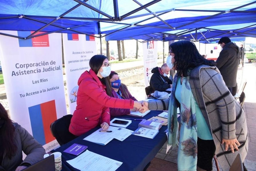
<path fill-rule="evenodd" d="M 123 141 L 127 137 L 129 137 L 131 133 L 133 133 L 133 131 L 129 129 L 112 127 L 112 126 L 109 126 L 109 129 L 108 129 L 108 131 L 112 131 L 112 132 L 100 132 L 100 131 L 102 131 L 102 128 L 88 135 L 87 137 L 84 138 L 84 140 L 97 143 L 100 145 L 106 145 L 114 138 L 120 141 Z"/>

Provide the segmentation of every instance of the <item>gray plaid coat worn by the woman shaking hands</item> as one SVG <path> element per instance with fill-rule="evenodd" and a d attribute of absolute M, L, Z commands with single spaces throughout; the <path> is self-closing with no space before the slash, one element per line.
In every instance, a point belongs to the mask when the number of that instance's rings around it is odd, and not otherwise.
<path fill-rule="evenodd" d="M 216 67 L 201 65 L 190 72 L 190 87 L 205 121 L 212 131 L 215 154 L 223 170 L 229 170 L 238 153 L 242 160 L 248 151 L 247 125 L 240 104 L 233 98 Z M 168 110 L 169 99 L 149 101 L 149 110 Z M 235 139 L 239 151 L 225 151 L 222 138 Z"/>

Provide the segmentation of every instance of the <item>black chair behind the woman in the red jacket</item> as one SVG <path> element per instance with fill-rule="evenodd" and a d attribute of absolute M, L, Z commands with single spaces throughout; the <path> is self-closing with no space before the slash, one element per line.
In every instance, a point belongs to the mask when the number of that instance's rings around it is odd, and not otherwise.
<path fill-rule="evenodd" d="M 60 145 L 66 144 L 77 137 L 68 131 L 72 116 L 72 114 L 65 115 L 54 121 L 50 126 L 52 135 Z"/>

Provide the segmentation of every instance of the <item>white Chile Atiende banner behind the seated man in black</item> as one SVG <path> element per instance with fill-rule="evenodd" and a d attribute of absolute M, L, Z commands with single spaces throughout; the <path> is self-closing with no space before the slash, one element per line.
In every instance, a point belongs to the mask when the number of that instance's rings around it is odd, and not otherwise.
<path fill-rule="evenodd" d="M 149 86 L 149 81 L 153 73 L 151 70 L 157 67 L 157 42 L 148 41 L 142 44 L 144 59 L 145 86 Z"/>

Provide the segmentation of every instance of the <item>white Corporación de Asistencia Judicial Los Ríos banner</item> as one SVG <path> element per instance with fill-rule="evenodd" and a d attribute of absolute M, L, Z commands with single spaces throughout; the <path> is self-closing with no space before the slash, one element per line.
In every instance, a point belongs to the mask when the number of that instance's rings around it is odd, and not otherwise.
<path fill-rule="evenodd" d="M 33 33 L 1 32 L 21 37 Z M 46 152 L 58 147 L 50 124 L 67 114 L 61 34 L 27 40 L 0 35 L 0 58 L 11 119 L 33 135 Z"/>

